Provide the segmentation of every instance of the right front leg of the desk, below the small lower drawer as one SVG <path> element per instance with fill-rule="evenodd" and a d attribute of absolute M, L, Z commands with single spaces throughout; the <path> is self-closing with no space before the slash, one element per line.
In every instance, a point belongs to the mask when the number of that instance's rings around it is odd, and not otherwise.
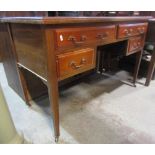
<path fill-rule="evenodd" d="M 136 87 L 135 84 L 136 84 L 136 81 L 137 81 L 137 76 L 138 76 L 138 72 L 139 72 L 139 67 L 140 67 L 142 54 L 143 54 L 143 50 L 136 53 L 136 64 L 135 64 L 134 75 L 133 75 L 133 84 L 134 84 L 135 87 Z"/>

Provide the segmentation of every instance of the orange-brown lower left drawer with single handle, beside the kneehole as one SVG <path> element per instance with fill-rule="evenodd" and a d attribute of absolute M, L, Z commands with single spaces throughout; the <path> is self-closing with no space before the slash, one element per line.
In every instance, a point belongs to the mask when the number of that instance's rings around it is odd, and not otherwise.
<path fill-rule="evenodd" d="M 96 51 L 92 48 L 57 55 L 59 80 L 95 68 Z"/>

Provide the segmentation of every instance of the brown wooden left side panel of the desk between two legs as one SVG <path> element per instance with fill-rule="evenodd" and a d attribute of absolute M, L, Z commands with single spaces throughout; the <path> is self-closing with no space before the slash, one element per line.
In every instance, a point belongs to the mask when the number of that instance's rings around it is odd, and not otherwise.
<path fill-rule="evenodd" d="M 17 61 L 47 79 L 44 32 L 40 25 L 11 24 Z"/>

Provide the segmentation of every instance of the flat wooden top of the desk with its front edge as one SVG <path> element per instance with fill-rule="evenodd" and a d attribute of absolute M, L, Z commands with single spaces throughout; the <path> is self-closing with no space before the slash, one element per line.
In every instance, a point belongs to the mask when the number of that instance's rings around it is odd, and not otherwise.
<path fill-rule="evenodd" d="M 1 23 L 24 24 L 75 24 L 75 23 L 104 23 L 104 22 L 141 22 L 148 21 L 151 16 L 126 17 L 3 17 Z"/>

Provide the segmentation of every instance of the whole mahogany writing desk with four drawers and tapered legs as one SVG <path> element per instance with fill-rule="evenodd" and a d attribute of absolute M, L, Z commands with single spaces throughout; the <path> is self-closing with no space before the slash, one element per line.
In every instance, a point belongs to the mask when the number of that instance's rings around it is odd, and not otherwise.
<path fill-rule="evenodd" d="M 59 131 L 58 84 L 94 69 L 97 47 L 126 41 L 124 55 L 136 54 L 136 82 L 150 17 L 6 17 L 1 18 L 10 40 L 24 99 L 29 103 L 21 68 L 48 87 L 55 140 Z"/>

